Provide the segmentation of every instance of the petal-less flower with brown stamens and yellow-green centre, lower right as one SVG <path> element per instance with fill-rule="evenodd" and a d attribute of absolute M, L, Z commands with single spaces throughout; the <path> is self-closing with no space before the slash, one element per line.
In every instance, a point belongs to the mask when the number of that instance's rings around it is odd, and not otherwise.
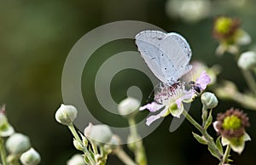
<path fill-rule="evenodd" d="M 234 108 L 219 113 L 217 121 L 213 122 L 213 127 L 221 135 L 222 145 L 230 145 L 239 154 L 244 149 L 245 141 L 251 139 L 245 131 L 249 125 L 247 114 Z"/>

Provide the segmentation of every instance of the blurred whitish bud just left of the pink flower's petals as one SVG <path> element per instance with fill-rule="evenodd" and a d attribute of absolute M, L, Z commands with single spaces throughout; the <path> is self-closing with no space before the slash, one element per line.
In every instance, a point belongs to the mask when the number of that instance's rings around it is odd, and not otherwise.
<path fill-rule="evenodd" d="M 134 98 L 126 98 L 119 103 L 119 114 L 124 117 L 133 117 L 137 114 L 140 102 Z"/>

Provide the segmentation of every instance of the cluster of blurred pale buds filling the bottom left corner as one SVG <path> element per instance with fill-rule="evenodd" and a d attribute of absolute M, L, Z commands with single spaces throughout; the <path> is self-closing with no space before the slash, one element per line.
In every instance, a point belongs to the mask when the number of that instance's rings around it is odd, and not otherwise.
<path fill-rule="evenodd" d="M 0 107 L 0 153 L 3 165 L 37 165 L 41 158 L 35 151 L 30 139 L 9 124 L 5 113 L 5 105 Z M 7 152 L 8 151 L 8 152 Z"/>

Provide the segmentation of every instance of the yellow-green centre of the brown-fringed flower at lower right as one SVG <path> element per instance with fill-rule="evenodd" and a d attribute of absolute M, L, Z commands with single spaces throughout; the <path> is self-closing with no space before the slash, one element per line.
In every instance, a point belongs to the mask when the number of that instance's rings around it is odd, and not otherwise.
<path fill-rule="evenodd" d="M 239 129 L 241 128 L 241 119 L 239 117 L 236 117 L 235 115 L 225 117 L 222 127 L 228 130 Z"/>

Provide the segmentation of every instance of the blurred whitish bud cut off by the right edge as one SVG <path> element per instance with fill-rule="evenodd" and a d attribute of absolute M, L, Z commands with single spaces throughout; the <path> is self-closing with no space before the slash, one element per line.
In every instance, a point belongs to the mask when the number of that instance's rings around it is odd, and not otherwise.
<path fill-rule="evenodd" d="M 238 66 L 241 69 L 249 70 L 256 66 L 256 53 L 253 51 L 248 51 L 242 53 L 237 61 Z"/>

